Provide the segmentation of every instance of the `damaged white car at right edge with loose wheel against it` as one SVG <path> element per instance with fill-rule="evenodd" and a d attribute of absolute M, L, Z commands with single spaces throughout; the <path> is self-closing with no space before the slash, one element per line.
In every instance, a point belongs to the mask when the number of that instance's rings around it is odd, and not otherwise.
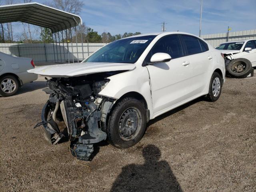
<path fill-rule="evenodd" d="M 256 39 L 222 43 L 216 47 L 224 54 L 226 72 L 236 78 L 253 75 L 256 67 Z"/>

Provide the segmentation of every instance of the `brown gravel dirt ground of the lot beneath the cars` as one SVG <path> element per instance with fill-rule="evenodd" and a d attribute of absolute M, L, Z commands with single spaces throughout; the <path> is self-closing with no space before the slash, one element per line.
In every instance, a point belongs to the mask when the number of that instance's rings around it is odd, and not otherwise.
<path fill-rule="evenodd" d="M 227 78 L 217 102 L 199 98 L 150 121 L 132 148 L 101 143 L 92 162 L 32 128 L 44 85 L 40 77 L 0 98 L 0 191 L 256 191 L 256 76 Z"/>

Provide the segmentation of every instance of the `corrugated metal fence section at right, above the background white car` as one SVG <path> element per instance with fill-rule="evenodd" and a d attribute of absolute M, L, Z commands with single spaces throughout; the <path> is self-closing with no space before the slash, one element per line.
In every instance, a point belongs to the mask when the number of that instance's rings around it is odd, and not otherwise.
<path fill-rule="evenodd" d="M 238 41 L 247 39 L 256 39 L 256 29 L 229 32 L 228 41 Z M 218 46 L 224 42 L 227 42 L 227 33 L 216 33 L 201 36 L 204 40 L 210 43 L 213 47 Z"/>

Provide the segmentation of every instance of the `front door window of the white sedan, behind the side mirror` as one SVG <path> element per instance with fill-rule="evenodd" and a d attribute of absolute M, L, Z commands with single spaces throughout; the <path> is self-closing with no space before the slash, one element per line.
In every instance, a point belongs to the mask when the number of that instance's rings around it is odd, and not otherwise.
<path fill-rule="evenodd" d="M 171 35 L 161 38 L 151 50 L 151 56 L 155 53 L 167 53 L 172 58 L 183 56 L 180 39 L 178 35 Z"/>

